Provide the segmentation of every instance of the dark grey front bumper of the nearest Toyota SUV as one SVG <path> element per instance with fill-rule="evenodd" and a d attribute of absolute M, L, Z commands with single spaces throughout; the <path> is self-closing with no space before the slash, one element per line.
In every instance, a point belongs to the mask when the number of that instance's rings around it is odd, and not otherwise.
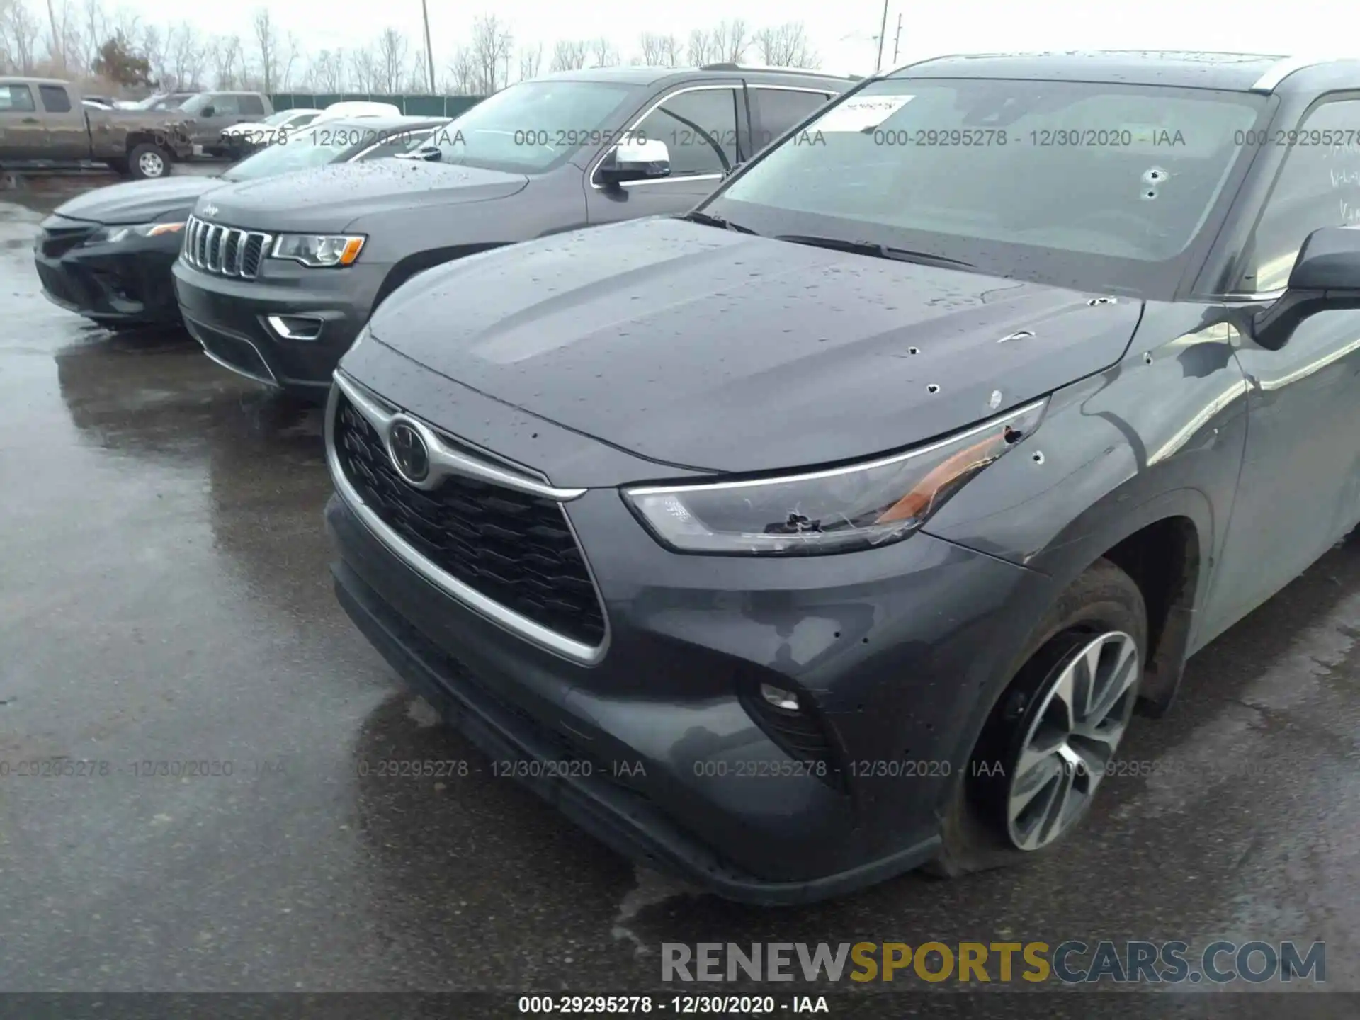
<path fill-rule="evenodd" d="M 590 490 L 567 505 L 609 622 L 586 665 L 427 581 L 337 487 L 337 596 L 394 669 L 492 758 L 547 763 L 521 778 L 605 843 L 747 902 L 839 895 L 934 853 L 1024 638 L 1006 609 L 1049 583 L 923 533 L 801 560 L 679 556 L 617 491 Z M 834 782 L 749 707 L 762 681 L 813 710 Z"/>

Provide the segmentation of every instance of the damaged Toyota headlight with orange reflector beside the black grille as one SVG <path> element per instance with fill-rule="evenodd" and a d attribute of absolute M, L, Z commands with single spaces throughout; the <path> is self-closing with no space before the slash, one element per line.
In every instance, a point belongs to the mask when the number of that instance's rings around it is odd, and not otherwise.
<path fill-rule="evenodd" d="M 815 556 L 906 539 L 1043 418 L 1047 398 L 907 453 L 847 468 L 698 486 L 641 486 L 624 500 L 680 552 Z"/>

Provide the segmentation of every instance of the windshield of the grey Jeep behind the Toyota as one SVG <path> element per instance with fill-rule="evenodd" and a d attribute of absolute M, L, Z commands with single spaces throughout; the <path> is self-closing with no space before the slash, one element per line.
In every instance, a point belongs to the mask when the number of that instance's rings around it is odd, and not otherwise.
<path fill-rule="evenodd" d="M 543 173 L 583 146 L 600 146 L 627 128 L 643 88 L 600 82 L 524 82 L 487 97 L 437 128 L 441 162 L 487 170 Z"/>

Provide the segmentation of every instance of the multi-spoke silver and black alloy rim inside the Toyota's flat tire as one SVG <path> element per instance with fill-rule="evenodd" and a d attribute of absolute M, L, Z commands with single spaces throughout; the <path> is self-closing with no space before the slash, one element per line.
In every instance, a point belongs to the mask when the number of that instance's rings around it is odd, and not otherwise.
<path fill-rule="evenodd" d="M 1085 812 L 1129 728 L 1141 673 L 1134 639 L 1108 631 L 1077 646 L 1035 694 L 1005 793 L 1017 849 L 1047 846 Z"/>

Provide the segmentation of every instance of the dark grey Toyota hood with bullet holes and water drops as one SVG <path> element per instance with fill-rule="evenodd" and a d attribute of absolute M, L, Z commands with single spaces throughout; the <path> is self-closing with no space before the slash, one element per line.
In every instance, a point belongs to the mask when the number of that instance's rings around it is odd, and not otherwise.
<path fill-rule="evenodd" d="M 910 446 L 1112 364 L 1141 305 L 1091 299 L 650 219 L 431 269 L 371 332 L 642 457 L 751 472 Z"/>

